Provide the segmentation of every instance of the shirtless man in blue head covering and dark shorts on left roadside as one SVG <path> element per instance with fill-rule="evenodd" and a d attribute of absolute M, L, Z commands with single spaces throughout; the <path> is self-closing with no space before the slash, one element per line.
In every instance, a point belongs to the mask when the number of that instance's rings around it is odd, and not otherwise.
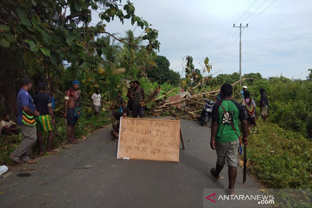
<path fill-rule="evenodd" d="M 75 125 L 81 115 L 81 97 L 78 91 L 79 81 L 72 81 L 72 89 L 65 93 L 64 119 L 67 119 L 68 134 L 71 144 L 78 144 L 79 139 L 75 139 Z"/>

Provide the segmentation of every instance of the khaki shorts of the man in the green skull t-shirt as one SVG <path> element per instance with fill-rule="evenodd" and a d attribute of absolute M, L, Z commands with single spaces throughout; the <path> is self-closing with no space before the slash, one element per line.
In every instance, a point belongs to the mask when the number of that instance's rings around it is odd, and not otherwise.
<path fill-rule="evenodd" d="M 225 143 L 220 143 L 216 140 L 215 147 L 217 152 L 217 164 L 219 166 L 227 164 L 227 166 L 237 167 L 239 139 Z"/>

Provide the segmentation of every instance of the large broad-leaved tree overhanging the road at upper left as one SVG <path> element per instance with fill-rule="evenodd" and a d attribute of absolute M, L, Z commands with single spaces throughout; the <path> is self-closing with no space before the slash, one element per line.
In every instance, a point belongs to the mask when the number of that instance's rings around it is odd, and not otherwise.
<path fill-rule="evenodd" d="M 98 10 L 99 17 L 105 22 L 118 18 L 123 23 L 124 19 L 131 19 L 132 25 L 144 29 L 141 38 L 148 42 L 147 45 L 120 40 L 106 31 L 105 24 L 90 26 L 91 10 Z M 107 54 L 109 47 L 106 37 L 100 37 L 100 34 L 154 53 L 153 50 L 159 49 L 158 31 L 137 17 L 134 11 L 130 1 L 121 0 L 0 1 L 1 82 L 11 80 L 12 84 L 13 77 L 17 81 L 25 75 L 32 75 L 35 81 L 42 77 L 49 81 L 52 77 L 61 76 L 60 64 L 68 63 L 75 67 L 83 65 L 85 82 L 94 82 L 95 72 L 103 74 L 101 55 Z"/>

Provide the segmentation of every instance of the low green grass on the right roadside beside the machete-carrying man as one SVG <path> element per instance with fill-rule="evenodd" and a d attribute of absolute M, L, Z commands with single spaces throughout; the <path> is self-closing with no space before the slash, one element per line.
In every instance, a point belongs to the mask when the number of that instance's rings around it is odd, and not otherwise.
<path fill-rule="evenodd" d="M 257 121 L 248 145 L 252 175 L 269 188 L 312 187 L 312 143 L 300 133 Z"/>

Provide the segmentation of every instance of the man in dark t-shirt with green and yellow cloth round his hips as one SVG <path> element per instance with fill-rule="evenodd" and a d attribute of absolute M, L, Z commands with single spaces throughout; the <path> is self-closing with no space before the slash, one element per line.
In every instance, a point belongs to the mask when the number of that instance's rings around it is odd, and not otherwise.
<path fill-rule="evenodd" d="M 51 149 L 51 145 L 54 138 L 55 118 L 52 109 L 52 98 L 46 94 L 46 83 L 40 82 L 38 84 L 39 92 L 33 96 L 34 104 L 37 107 L 40 116 L 36 118 L 37 124 L 37 145 L 40 150 L 39 154 L 43 154 L 42 148 L 42 132 L 48 132 L 48 143 L 46 147 L 46 153 L 52 154 L 56 151 Z"/>

